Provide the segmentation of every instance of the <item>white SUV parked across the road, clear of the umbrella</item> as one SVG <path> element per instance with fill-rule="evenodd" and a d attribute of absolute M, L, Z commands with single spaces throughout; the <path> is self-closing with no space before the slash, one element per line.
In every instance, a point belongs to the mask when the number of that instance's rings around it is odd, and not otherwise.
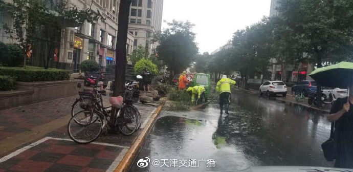
<path fill-rule="evenodd" d="M 259 94 L 267 94 L 269 97 L 281 94 L 283 97 L 287 95 L 287 86 L 282 81 L 266 81 L 260 85 Z"/>

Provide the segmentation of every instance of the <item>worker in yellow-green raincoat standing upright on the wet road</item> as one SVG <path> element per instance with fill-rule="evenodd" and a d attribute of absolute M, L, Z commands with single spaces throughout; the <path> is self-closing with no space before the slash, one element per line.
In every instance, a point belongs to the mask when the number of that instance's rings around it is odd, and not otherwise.
<path fill-rule="evenodd" d="M 232 79 L 227 78 L 227 75 L 223 75 L 222 79 L 217 82 L 216 91 L 219 94 L 219 108 L 220 114 L 223 114 L 223 105 L 226 106 L 226 114 L 229 114 L 229 103 L 230 103 L 230 85 L 234 85 L 236 82 Z"/>

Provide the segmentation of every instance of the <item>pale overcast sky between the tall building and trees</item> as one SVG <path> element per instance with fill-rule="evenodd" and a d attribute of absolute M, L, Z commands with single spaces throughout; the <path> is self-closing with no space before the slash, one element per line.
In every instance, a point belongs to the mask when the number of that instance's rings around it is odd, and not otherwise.
<path fill-rule="evenodd" d="M 163 20 L 195 24 L 200 53 L 227 44 L 233 33 L 269 16 L 271 0 L 164 0 Z M 162 29 L 167 27 L 162 23 Z"/>

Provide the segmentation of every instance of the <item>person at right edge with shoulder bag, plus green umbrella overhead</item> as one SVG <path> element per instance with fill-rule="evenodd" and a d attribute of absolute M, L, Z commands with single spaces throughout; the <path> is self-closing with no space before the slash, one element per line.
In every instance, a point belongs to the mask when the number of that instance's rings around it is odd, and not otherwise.
<path fill-rule="evenodd" d="M 331 134 L 321 147 L 328 161 L 336 159 L 335 167 L 353 168 L 353 63 L 318 68 L 310 76 L 321 86 L 348 88 L 348 97 L 337 99 L 331 107 L 327 116 Z"/>

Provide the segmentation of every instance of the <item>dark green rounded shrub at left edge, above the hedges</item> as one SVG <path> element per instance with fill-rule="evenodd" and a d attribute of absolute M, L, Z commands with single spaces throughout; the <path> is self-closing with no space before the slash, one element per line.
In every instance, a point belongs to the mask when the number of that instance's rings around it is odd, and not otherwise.
<path fill-rule="evenodd" d="M 23 64 L 24 55 L 17 45 L 0 42 L 0 64 L 8 67 L 18 67 Z"/>

